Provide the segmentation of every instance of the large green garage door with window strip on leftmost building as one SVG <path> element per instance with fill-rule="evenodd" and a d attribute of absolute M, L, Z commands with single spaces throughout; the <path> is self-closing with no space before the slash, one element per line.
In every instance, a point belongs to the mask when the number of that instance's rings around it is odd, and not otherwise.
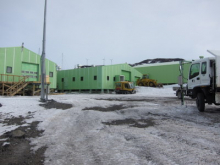
<path fill-rule="evenodd" d="M 31 63 L 22 63 L 22 76 L 28 76 L 27 81 L 38 81 L 39 65 Z"/>

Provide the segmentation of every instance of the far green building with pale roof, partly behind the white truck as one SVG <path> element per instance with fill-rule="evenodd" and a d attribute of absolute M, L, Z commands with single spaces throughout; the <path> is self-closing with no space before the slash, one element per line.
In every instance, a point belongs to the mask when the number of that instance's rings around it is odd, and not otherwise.
<path fill-rule="evenodd" d="M 179 67 L 179 62 L 166 62 L 145 64 L 135 66 L 134 68 L 142 74 L 148 74 L 150 79 L 155 79 L 158 83 L 176 84 L 178 83 L 178 76 L 180 75 Z M 183 65 L 184 83 L 186 83 L 188 79 L 189 67 L 190 63 Z"/>

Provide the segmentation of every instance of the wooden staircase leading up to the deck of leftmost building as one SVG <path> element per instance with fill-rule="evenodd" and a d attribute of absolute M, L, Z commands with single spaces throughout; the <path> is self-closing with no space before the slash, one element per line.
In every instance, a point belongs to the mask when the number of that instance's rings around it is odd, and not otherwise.
<path fill-rule="evenodd" d="M 24 89 L 29 84 L 29 82 L 25 81 L 27 78 L 28 77 L 23 77 L 18 82 L 16 82 L 12 86 L 10 86 L 8 89 L 6 89 L 5 93 L 7 94 L 7 96 L 14 96 L 18 92 L 20 92 L 22 89 Z"/>

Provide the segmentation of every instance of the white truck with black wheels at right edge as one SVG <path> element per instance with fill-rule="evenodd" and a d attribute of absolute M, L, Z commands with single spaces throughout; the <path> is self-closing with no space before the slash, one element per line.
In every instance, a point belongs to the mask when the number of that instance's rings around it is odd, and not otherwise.
<path fill-rule="evenodd" d="M 220 51 L 208 52 L 214 57 L 192 61 L 186 87 L 174 89 L 178 98 L 183 99 L 184 95 L 196 98 L 201 112 L 205 110 L 205 103 L 220 105 Z"/>

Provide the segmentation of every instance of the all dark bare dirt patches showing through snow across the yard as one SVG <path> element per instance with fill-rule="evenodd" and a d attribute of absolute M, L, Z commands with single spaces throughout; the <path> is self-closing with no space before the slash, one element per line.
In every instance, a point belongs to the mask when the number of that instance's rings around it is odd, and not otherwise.
<path fill-rule="evenodd" d="M 169 105 L 179 105 L 180 101 L 173 97 L 167 97 L 167 98 L 145 98 L 145 99 L 123 99 L 123 98 L 110 98 L 110 99 L 98 99 L 100 101 L 120 101 L 120 105 L 112 105 L 106 108 L 103 107 L 86 107 L 82 109 L 83 111 L 100 111 L 100 112 L 110 112 L 110 111 L 118 111 L 119 113 L 123 113 L 123 109 L 126 108 L 132 108 L 136 107 L 137 105 L 133 105 L 132 102 L 151 102 L 151 103 L 157 103 L 161 106 L 169 106 Z M 130 104 L 127 104 L 129 102 Z M 194 105 L 195 100 L 186 99 L 185 103 L 187 105 Z M 46 109 L 50 108 L 57 108 L 57 109 L 68 109 L 71 108 L 73 105 L 71 104 L 64 104 L 59 103 L 54 100 L 50 100 L 45 104 L 39 104 L 42 107 L 45 107 Z M 30 112 L 28 116 L 26 117 L 12 117 L 7 118 L 5 120 L 0 120 L 1 123 L 4 125 L 17 125 L 19 126 L 17 129 L 13 131 L 9 131 L 4 133 L 2 136 L 0 136 L 0 139 L 4 139 L 4 141 L 0 141 L 0 164 L 1 165 L 43 165 L 44 164 L 44 153 L 47 149 L 47 146 L 41 147 L 36 152 L 33 152 L 31 150 L 30 145 L 30 138 L 35 138 L 38 136 L 41 136 L 43 131 L 39 131 L 37 129 L 37 125 L 39 122 L 32 122 L 28 126 L 21 126 L 22 124 L 25 124 L 25 119 L 31 118 L 32 113 Z M 195 114 L 196 115 L 196 114 Z M 206 111 L 204 113 L 201 113 L 200 115 L 203 115 L 208 120 L 210 120 L 210 124 L 220 123 L 220 110 L 219 109 L 213 109 L 212 106 L 207 106 Z M 153 114 L 151 112 L 148 112 L 147 118 L 144 119 L 134 119 L 134 118 L 126 118 L 123 120 L 111 120 L 108 122 L 102 122 L 102 124 L 107 126 L 120 126 L 120 125 L 127 125 L 128 127 L 136 127 L 136 128 L 147 128 L 150 126 L 155 126 L 155 116 L 159 116 L 161 120 L 183 120 L 183 118 L 179 118 L 177 116 L 169 116 L 166 114 Z M 1 116 L 0 116 L 1 118 Z M 190 122 L 192 121 L 190 118 L 184 119 L 188 120 Z M 195 121 L 195 123 L 198 124 L 198 121 Z M 205 123 L 199 123 L 199 124 L 205 124 Z M 161 135 L 165 136 L 165 135 Z M 126 139 L 127 140 L 127 139 Z M 220 154 L 220 153 L 219 153 Z M 152 157 L 148 156 L 148 159 L 153 159 Z"/>

